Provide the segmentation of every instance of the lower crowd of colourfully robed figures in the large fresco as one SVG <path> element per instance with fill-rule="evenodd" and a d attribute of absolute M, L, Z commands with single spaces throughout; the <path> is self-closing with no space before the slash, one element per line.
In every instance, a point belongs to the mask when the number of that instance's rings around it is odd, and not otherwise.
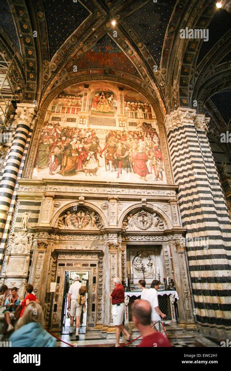
<path fill-rule="evenodd" d="M 49 168 L 49 175 L 74 176 L 79 172 L 97 176 L 99 168 L 114 172 L 116 178 L 134 173 L 147 181 L 163 180 L 163 157 L 158 134 L 151 124 L 139 130 L 106 130 L 60 126 L 46 122 L 36 159 L 39 173 Z"/>

